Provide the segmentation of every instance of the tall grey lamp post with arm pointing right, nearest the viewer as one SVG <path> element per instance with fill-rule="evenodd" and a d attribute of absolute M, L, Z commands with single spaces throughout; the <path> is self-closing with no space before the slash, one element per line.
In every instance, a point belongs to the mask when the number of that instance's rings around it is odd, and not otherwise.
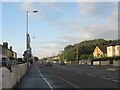
<path fill-rule="evenodd" d="M 26 52 L 27 52 L 27 63 L 28 63 L 28 14 L 29 13 L 37 13 L 37 11 L 26 11 Z"/>

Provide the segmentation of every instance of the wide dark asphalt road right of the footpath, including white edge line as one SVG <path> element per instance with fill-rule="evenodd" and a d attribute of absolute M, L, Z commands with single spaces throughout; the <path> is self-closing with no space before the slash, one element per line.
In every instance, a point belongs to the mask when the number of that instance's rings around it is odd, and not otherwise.
<path fill-rule="evenodd" d="M 69 88 L 71 90 L 118 88 L 118 83 L 120 82 L 118 80 L 118 68 L 111 66 L 53 64 L 52 66 L 41 68 L 36 63 L 34 67 L 36 67 L 38 72 L 37 75 L 39 74 L 44 79 L 47 88 L 51 90 L 58 88 Z"/>

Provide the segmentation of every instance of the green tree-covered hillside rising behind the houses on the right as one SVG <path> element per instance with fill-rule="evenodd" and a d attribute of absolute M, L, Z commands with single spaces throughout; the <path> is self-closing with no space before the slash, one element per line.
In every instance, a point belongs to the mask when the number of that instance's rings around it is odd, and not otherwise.
<path fill-rule="evenodd" d="M 74 45 L 68 45 L 64 48 L 64 52 L 61 54 L 61 60 L 77 60 L 77 47 L 79 52 L 79 59 L 85 57 L 85 55 L 92 56 L 95 47 L 98 44 L 102 45 L 115 45 L 120 44 L 120 40 L 104 40 L 104 39 L 94 39 L 94 40 L 85 40 Z"/>

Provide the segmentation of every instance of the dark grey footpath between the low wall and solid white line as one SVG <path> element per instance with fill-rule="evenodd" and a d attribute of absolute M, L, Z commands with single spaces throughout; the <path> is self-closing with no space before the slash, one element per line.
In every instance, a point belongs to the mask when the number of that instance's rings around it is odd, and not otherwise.
<path fill-rule="evenodd" d="M 30 68 L 26 72 L 26 74 L 21 79 L 20 83 L 14 88 L 15 90 L 21 89 L 40 89 L 46 88 L 47 90 L 51 90 L 48 84 L 45 82 L 43 77 L 40 75 L 38 68 L 35 63 L 31 64 Z"/>

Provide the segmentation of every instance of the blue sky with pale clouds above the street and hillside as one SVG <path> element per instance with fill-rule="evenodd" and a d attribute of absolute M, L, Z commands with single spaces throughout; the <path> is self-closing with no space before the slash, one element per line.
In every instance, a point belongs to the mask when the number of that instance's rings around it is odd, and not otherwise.
<path fill-rule="evenodd" d="M 118 38 L 117 0 L 2 0 L 0 7 L 0 43 L 8 42 L 18 57 L 26 50 L 26 11 L 38 11 L 29 13 L 28 32 L 39 58 L 84 40 Z"/>

